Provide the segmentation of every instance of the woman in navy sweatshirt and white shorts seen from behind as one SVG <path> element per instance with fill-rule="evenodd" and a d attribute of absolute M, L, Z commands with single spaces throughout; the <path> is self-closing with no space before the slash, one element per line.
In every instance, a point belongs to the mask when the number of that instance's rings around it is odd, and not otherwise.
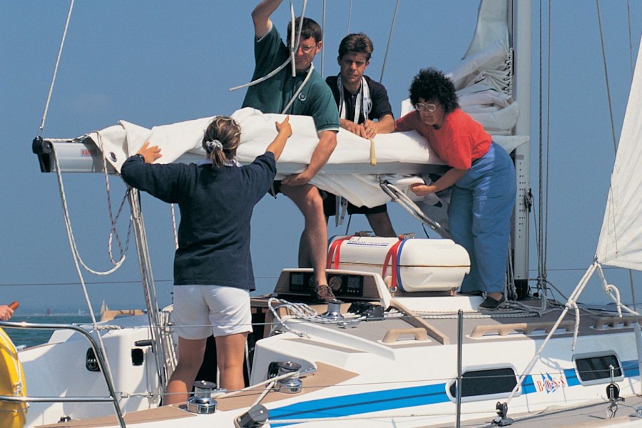
<path fill-rule="evenodd" d="M 276 161 L 292 135 L 289 117 L 275 125 L 276 138 L 250 165 L 235 161 L 241 130 L 226 116 L 215 117 L 205 131 L 205 161 L 154 164 L 161 149 L 147 142 L 123 163 L 121 175 L 128 185 L 180 209 L 173 287 L 178 365 L 163 404 L 188 398 L 210 335 L 216 341 L 220 387 L 244 387 L 250 291 L 255 290 L 250 218 L 272 185 Z"/>

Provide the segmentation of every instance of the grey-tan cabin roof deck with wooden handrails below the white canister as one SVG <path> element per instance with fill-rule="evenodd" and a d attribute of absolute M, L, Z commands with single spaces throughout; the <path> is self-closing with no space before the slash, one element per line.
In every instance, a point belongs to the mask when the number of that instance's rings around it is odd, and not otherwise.
<path fill-rule="evenodd" d="M 520 301 L 519 304 L 508 304 L 504 308 L 493 311 L 479 312 L 472 310 L 477 307 L 481 297 L 419 297 L 422 306 L 427 310 L 413 310 L 408 300 L 397 304 L 393 299 L 393 307 L 397 317 L 386 315 L 383 319 L 372 318 L 360 322 L 352 322 L 347 317 L 344 322 L 330 322 L 327 328 L 354 335 L 361 340 L 370 340 L 394 348 L 417 345 L 422 342 L 426 346 L 457 344 L 459 336 L 457 323 L 457 307 L 464 310 L 463 314 L 463 343 L 479 341 L 503 342 L 517 338 L 544 339 L 553 329 L 564 310 L 555 305 L 546 310 L 540 310 L 539 300 Z M 417 300 L 419 302 L 419 300 Z M 311 305 L 318 314 L 323 316 L 327 305 Z M 439 310 L 439 308 L 444 308 Z M 350 303 L 343 303 L 340 312 L 346 315 Z M 285 311 L 282 311 L 285 315 Z M 268 318 L 271 320 L 271 317 Z M 581 310 L 579 319 L 579 335 L 608 335 L 613 332 L 633 330 L 636 317 L 618 317 L 612 312 Z M 639 321 L 639 320 L 638 320 Z M 554 337 L 572 337 L 576 328 L 575 312 L 566 313 L 557 325 Z M 427 332 L 427 337 L 422 332 Z"/>

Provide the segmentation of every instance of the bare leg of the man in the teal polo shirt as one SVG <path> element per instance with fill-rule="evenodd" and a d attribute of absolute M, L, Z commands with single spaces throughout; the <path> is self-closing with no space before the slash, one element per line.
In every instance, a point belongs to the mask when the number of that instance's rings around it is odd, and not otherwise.
<path fill-rule="evenodd" d="M 327 263 L 327 225 L 323 214 L 323 200 L 315 186 L 282 185 L 281 191 L 292 199 L 303 213 L 305 228 L 303 229 L 300 248 L 307 245 L 310 262 L 315 270 L 315 284 L 327 285 L 325 264 Z M 299 260 L 305 260 L 299 256 Z"/>

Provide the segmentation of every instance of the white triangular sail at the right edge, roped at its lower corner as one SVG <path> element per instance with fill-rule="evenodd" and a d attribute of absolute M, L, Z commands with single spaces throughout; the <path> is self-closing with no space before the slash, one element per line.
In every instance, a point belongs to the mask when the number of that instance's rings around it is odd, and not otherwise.
<path fill-rule="evenodd" d="M 596 250 L 604 265 L 642 270 L 642 44 Z"/>

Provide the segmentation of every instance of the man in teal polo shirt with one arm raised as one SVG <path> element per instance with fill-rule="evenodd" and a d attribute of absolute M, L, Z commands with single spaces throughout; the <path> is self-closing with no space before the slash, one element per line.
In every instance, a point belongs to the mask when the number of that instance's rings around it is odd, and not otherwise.
<path fill-rule="evenodd" d="M 290 28 L 287 46 L 270 20 L 270 16 L 282 0 L 263 0 L 252 11 L 255 31 L 256 67 L 252 80 L 265 76 L 284 63 L 290 56 Z M 297 19 L 296 26 L 299 25 Z M 298 29 L 296 29 L 298 30 Z M 296 34 L 296 31 L 295 31 Z M 263 113 L 284 113 L 312 116 L 315 121 L 319 143 L 312 153 L 310 163 L 302 173 L 288 175 L 275 190 L 280 191 L 297 205 L 305 218 L 305 228 L 299 243 L 299 266 L 315 270 L 317 297 L 332 300 L 334 295 L 327 286 L 325 265 L 327 262 L 327 225 L 323 213 L 323 201 L 319 190 L 310 185 L 310 180 L 325 165 L 337 146 L 339 111 L 332 91 L 323 78 L 314 71 L 312 61 L 321 51 L 321 28 L 312 19 L 304 18 L 301 37 L 295 52 L 296 76 L 292 77 L 288 64 L 275 76 L 248 88 L 243 107 L 257 108 Z M 302 86 L 302 88 L 301 88 Z"/>

